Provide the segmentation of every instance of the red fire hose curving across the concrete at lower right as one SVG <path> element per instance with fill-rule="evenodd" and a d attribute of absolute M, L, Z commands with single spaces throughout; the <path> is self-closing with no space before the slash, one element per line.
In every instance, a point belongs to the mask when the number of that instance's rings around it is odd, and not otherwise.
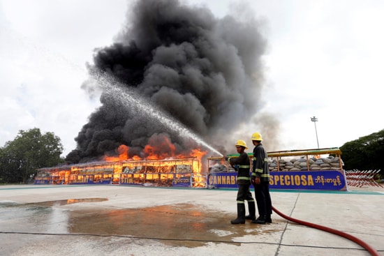
<path fill-rule="evenodd" d="M 290 220 L 290 221 L 292 221 L 294 223 L 298 223 L 298 224 L 301 224 L 301 225 L 306 225 L 308 227 L 313 227 L 313 228 L 320 229 L 320 230 L 323 230 L 323 231 L 326 231 L 326 232 L 330 232 L 332 234 L 337 234 L 338 236 L 343 236 L 346 239 L 349 239 L 350 241 L 354 241 L 355 243 L 359 244 L 363 248 L 367 249 L 368 252 L 371 253 L 371 255 L 373 255 L 373 256 L 381 256 L 381 255 L 378 254 L 378 252 L 372 246 L 369 246 L 368 243 L 365 243 L 364 241 L 358 239 L 355 236 L 351 236 L 350 234 L 341 232 L 341 231 L 336 230 L 336 229 L 332 229 L 330 227 L 325 227 L 325 226 L 321 226 L 321 225 L 317 225 L 317 224 L 313 224 L 313 223 L 307 223 L 307 221 L 297 220 L 295 218 L 291 218 L 290 216 L 286 216 L 283 213 L 281 213 L 280 211 L 276 210 L 276 208 L 274 208 L 274 206 L 272 206 L 272 210 L 275 213 L 277 213 L 279 216 L 285 218 L 286 220 Z"/>

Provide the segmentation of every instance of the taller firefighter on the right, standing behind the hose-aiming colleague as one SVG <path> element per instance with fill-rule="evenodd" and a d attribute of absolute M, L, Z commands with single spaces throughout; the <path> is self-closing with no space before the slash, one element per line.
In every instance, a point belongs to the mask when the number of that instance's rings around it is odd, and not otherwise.
<path fill-rule="evenodd" d="M 255 145 L 252 158 L 251 183 L 255 187 L 255 198 L 259 213 L 259 217 L 256 220 L 252 220 L 252 223 L 272 223 L 272 201 L 271 195 L 269 195 L 269 166 L 267 152 L 265 152 L 263 144 L 261 144 L 263 138 L 260 133 L 253 133 L 251 140 L 253 145 Z"/>

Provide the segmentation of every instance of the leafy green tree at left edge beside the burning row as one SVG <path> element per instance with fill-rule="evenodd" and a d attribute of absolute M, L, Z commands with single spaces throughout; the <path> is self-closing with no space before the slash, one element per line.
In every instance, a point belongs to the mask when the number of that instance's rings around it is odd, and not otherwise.
<path fill-rule="evenodd" d="M 0 149 L 0 179 L 6 183 L 27 183 L 42 167 L 64 162 L 63 145 L 54 133 L 41 134 L 39 128 L 20 130 L 15 140 Z"/>

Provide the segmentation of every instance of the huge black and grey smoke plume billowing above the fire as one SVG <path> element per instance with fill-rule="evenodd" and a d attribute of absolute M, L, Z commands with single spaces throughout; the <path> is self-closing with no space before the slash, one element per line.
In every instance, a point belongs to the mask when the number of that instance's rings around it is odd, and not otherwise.
<path fill-rule="evenodd" d="M 260 23 L 230 15 L 219 19 L 207 8 L 178 0 L 140 0 L 128 9 L 123 31 L 115 43 L 96 50 L 89 72 L 114 77 L 224 153 L 227 135 L 249 122 L 262 104 L 266 40 Z M 90 79 L 83 86 L 92 89 L 92 84 Z M 200 147 L 138 109 L 103 92 L 101 107 L 89 116 L 66 160 L 121 153 L 192 156 Z"/>

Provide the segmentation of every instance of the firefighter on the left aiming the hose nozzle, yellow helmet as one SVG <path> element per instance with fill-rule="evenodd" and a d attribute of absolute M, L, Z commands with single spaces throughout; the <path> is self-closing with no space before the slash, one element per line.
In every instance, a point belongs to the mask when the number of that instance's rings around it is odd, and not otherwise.
<path fill-rule="evenodd" d="M 249 186 L 251 186 L 251 177 L 249 175 L 251 160 L 249 160 L 249 156 L 245 152 L 245 149 L 248 149 L 248 147 L 244 140 L 237 140 L 235 146 L 239 157 L 226 157 L 226 160 L 228 160 L 230 165 L 237 171 L 237 185 L 239 186 L 237 190 L 237 218 L 230 220 L 230 223 L 244 224 L 246 219 L 256 220 L 255 200 L 249 190 Z M 248 202 L 249 216 L 245 216 L 245 200 Z"/>

